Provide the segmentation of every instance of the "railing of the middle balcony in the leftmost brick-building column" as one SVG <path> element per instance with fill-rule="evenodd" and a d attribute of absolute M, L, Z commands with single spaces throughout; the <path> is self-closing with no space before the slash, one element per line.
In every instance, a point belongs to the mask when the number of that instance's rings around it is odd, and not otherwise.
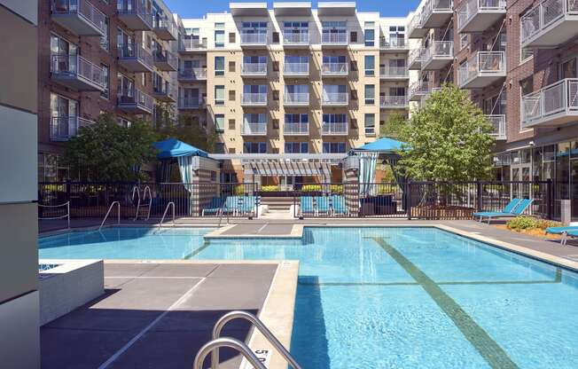
<path fill-rule="evenodd" d="M 105 88 L 102 68 L 80 55 L 51 55 L 51 73 L 53 75 L 75 76 L 97 85 L 100 89 Z"/>

